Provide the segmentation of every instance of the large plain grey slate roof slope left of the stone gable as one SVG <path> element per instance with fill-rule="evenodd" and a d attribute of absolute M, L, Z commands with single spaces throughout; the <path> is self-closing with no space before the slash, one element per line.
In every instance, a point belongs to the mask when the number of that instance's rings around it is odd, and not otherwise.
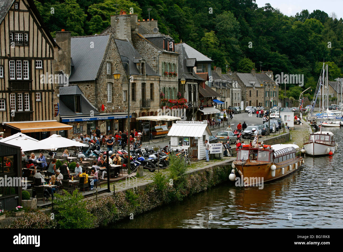
<path fill-rule="evenodd" d="M 71 58 L 74 67 L 70 82 L 96 79 L 109 38 L 109 34 L 71 38 Z M 90 48 L 91 42 L 94 43 L 94 48 Z"/>

